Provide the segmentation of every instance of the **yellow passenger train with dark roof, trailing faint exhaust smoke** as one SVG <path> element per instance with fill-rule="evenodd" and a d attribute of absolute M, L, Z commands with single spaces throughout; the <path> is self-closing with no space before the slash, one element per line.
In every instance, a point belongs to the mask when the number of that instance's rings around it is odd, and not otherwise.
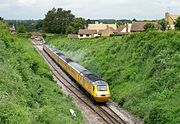
<path fill-rule="evenodd" d="M 43 44 L 43 50 L 85 90 L 95 103 L 106 103 L 110 98 L 109 85 L 97 75 L 66 57 L 53 46 Z"/>

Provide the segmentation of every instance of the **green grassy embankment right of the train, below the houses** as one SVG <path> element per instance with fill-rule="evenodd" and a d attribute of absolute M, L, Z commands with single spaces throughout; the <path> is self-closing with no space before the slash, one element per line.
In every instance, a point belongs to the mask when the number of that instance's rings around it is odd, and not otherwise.
<path fill-rule="evenodd" d="M 180 123 L 180 32 L 47 41 L 103 77 L 111 99 L 145 123 Z"/>

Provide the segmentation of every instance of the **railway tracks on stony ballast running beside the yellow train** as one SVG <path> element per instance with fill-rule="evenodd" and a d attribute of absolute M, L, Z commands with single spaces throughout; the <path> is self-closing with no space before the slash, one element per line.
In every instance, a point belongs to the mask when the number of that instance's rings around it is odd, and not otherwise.
<path fill-rule="evenodd" d="M 108 105 L 94 105 L 85 96 L 82 91 L 66 79 L 63 74 L 61 74 L 57 69 L 57 64 L 45 53 L 43 50 L 37 47 L 35 43 L 33 45 L 36 47 L 38 52 L 46 59 L 50 65 L 51 71 L 54 76 L 61 82 L 72 94 L 74 94 L 80 101 L 82 101 L 86 106 L 88 106 L 94 113 L 96 113 L 105 123 L 107 124 L 126 124 L 118 114 L 116 114 Z M 39 44 L 38 44 L 39 45 Z M 39 45 L 41 46 L 41 45 Z"/>

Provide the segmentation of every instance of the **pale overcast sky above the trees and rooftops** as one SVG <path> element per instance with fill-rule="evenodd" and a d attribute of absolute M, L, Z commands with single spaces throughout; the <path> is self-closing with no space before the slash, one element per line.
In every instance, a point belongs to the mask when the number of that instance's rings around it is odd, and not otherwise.
<path fill-rule="evenodd" d="M 86 19 L 160 19 L 166 11 L 180 14 L 180 0 L 0 0 L 0 17 L 43 19 L 53 7 Z"/>

